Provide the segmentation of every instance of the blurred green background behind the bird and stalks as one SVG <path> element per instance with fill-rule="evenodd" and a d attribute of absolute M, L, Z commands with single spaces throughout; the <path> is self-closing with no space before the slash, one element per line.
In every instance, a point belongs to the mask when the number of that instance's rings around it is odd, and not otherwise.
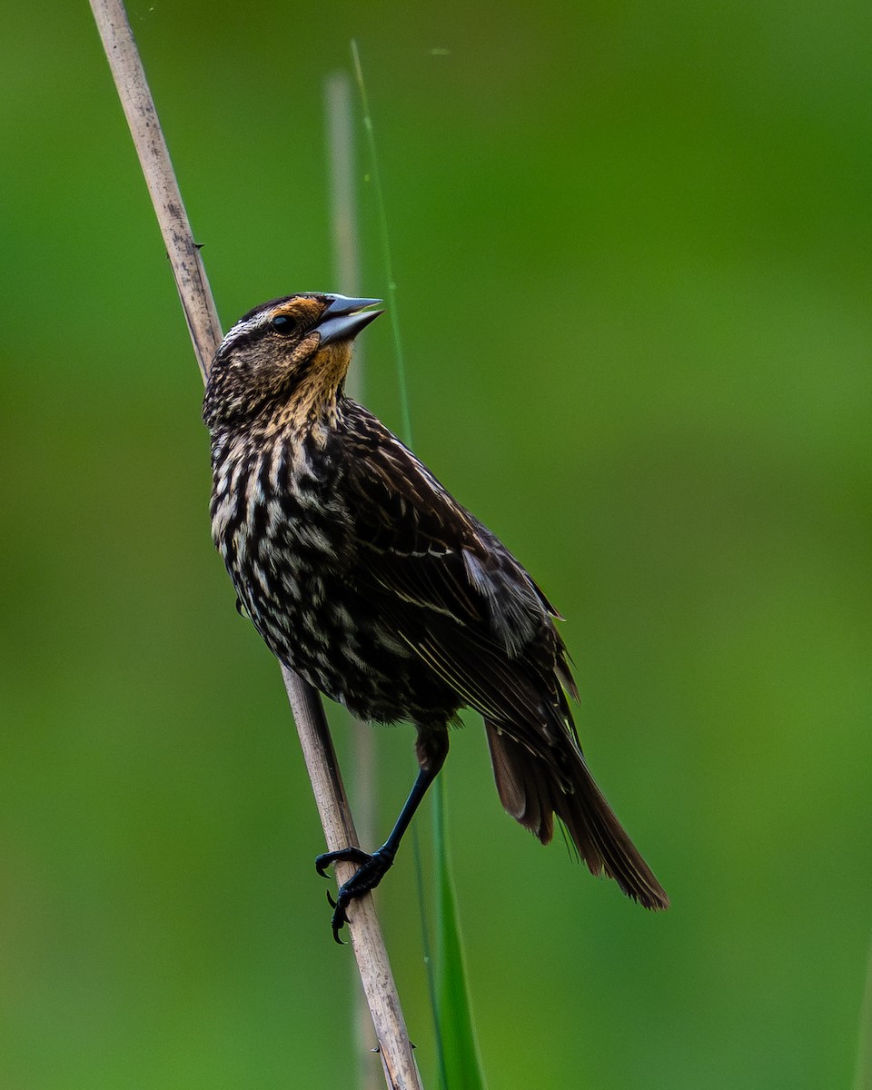
<path fill-rule="evenodd" d="M 335 286 L 323 82 L 358 38 L 417 452 L 569 618 L 582 740 L 673 897 L 650 916 L 541 848 L 477 723 L 452 738 L 492 1088 L 849 1086 L 869 5 L 130 13 L 225 325 Z M 348 1085 L 351 954 L 278 670 L 209 540 L 201 380 L 89 10 L 20 5 L 0 51 L 0 1086 Z M 365 339 L 399 427 L 388 323 Z M 411 731 L 378 752 L 387 832 Z M 435 1086 L 409 850 L 379 900 Z"/>

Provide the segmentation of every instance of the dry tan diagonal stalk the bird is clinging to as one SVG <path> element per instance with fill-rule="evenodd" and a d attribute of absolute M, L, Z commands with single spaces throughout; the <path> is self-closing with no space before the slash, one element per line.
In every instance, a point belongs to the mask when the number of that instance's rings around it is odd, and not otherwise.
<path fill-rule="evenodd" d="M 90 0 L 90 7 L 152 195 L 201 375 L 205 380 L 221 339 L 221 328 L 155 104 L 123 3 L 121 0 Z M 354 823 L 320 698 L 302 678 L 283 666 L 282 676 L 327 848 L 332 851 L 356 845 Z M 351 876 L 354 867 L 339 863 L 336 870 L 337 880 L 341 883 Z M 421 1090 L 399 994 L 371 895 L 355 900 L 354 921 L 349 930 L 387 1086 L 390 1090 Z"/>

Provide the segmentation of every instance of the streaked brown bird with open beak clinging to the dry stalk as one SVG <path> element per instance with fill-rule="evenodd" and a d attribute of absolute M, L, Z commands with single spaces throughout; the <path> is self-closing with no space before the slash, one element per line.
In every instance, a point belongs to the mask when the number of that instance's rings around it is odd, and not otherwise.
<path fill-rule="evenodd" d="M 554 814 L 594 874 L 645 908 L 668 898 L 588 770 L 559 617 L 508 549 L 383 424 L 344 396 L 376 299 L 306 293 L 250 311 L 221 342 L 203 417 L 215 543 L 270 651 L 361 719 L 409 719 L 420 772 L 397 824 L 339 891 L 334 935 L 378 885 L 448 752 L 484 718 L 506 810 L 543 844 Z"/>

